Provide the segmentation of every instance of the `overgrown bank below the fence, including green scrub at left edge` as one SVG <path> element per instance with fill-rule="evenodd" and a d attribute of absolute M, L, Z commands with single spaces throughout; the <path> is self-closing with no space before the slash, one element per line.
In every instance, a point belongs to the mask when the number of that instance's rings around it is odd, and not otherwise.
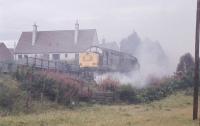
<path fill-rule="evenodd" d="M 66 74 L 18 68 L 0 76 L 0 116 L 78 102 L 84 82 Z M 59 104 L 59 105 L 58 105 Z M 46 107 L 46 108 L 45 108 Z M 42 111 L 42 110 L 41 110 Z"/>

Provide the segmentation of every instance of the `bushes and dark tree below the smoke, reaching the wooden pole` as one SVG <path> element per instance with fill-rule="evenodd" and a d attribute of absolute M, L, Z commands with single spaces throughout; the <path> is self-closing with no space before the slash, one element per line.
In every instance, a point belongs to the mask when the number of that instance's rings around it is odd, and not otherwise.
<path fill-rule="evenodd" d="M 115 95 L 122 102 L 150 103 L 160 100 L 180 90 L 186 90 L 193 86 L 194 61 L 189 53 L 180 58 L 175 75 L 162 79 L 152 77 L 150 84 L 142 89 L 136 89 L 131 85 L 119 85 L 118 81 L 106 78 L 103 81 L 105 90 L 113 89 Z M 113 88 L 114 87 L 114 88 Z"/>

